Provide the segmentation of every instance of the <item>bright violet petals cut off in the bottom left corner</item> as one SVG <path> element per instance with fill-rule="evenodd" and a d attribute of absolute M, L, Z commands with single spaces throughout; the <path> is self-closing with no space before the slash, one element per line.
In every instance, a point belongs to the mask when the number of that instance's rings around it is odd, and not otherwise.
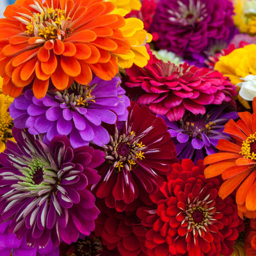
<path fill-rule="evenodd" d="M 12 221 L 4 222 L 0 225 L 0 255 L 10 256 L 59 256 L 59 248 L 52 245 L 51 241 L 45 248 L 29 247 L 26 236 L 17 239 L 15 234 L 8 232 L 8 227 Z"/>

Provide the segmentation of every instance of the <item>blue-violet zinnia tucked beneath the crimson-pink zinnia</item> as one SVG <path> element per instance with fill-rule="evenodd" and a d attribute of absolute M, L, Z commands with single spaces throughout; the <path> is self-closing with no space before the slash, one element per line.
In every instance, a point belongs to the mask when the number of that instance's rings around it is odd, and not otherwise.
<path fill-rule="evenodd" d="M 236 111 L 227 111 L 228 105 L 216 107 L 209 106 L 204 115 L 185 113 L 183 118 L 170 122 L 166 116 L 161 116 L 175 143 L 178 159 L 198 159 L 218 152 L 216 146 L 220 139 L 230 140 L 223 132 L 224 125 L 230 119 L 236 119 Z M 225 111 L 226 110 L 226 111 Z"/>

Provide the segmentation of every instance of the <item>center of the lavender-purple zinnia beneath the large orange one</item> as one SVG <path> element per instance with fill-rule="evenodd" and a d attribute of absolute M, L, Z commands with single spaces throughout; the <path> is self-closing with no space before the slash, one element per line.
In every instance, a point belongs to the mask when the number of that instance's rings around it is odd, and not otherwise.
<path fill-rule="evenodd" d="M 66 104 L 70 108 L 75 109 L 86 108 L 88 102 L 95 102 L 95 96 L 93 96 L 92 90 L 97 86 L 97 83 L 92 84 L 91 86 L 73 83 L 70 88 L 64 90 L 63 92 L 54 92 L 56 99 L 58 99 L 61 104 Z"/>

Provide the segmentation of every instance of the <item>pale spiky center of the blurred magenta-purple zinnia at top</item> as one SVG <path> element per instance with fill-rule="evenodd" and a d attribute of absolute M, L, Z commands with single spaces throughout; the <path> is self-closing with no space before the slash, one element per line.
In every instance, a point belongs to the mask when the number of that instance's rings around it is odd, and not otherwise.
<path fill-rule="evenodd" d="M 196 24 L 207 17 L 207 10 L 205 4 L 201 3 L 200 0 L 194 1 L 189 0 L 189 4 L 177 1 L 179 7 L 177 10 L 168 10 L 168 13 L 172 15 L 169 20 L 177 22 L 184 26 Z"/>

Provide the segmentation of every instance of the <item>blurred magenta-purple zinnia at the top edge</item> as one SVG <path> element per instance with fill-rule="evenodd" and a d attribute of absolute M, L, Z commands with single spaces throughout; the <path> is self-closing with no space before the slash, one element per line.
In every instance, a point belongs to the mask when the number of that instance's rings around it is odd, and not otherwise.
<path fill-rule="evenodd" d="M 160 0 L 150 32 L 158 33 L 159 49 L 198 54 L 212 40 L 230 40 L 233 9 L 229 0 Z"/>

